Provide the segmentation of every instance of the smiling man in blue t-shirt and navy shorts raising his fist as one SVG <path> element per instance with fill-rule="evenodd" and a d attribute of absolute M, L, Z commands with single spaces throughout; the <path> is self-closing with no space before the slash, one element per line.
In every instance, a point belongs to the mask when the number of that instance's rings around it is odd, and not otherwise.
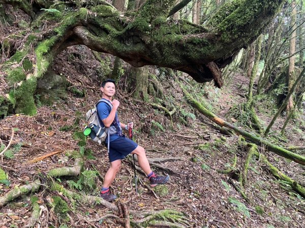
<path fill-rule="evenodd" d="M 166 183 L 169 180 L 169 175 L 156 175 L 150 169 L 144 148 L 122 135 L 121 129 L 129 130 L 129 128 L 133 128 L 133 123 L 128 123 L 128 125 L 126 125 L 120 123 L 118 120 L 116 110 L 119 106 L 119 101 L 115 99 L 112 100 L 112 96 L 115 93 L 115 82 L 111 79 L 107 79 L 106 81 L 102 82 L 101 91 L 103 94 L 102 98 L 109 100 L 113 105 L 111 109 L 111 107 L 105 102 L 100 102 L 98 104 L 97 109 L 99 118 L 102 121 L 101 124 L 107 128 L 114 126 L 117 130 L 116 134 L 110 135 L 108 157 L 111 166 L 104 178 L 103 188 L 101 189 L 101 197 L 107 201 L 113 201 L 116 199 L 115 195 L 111 195 L 109 193 L 109 186 L 114 180 L 115 175 L 121 166 L 121 159 L 124 159 L 129 154 L 137 155 L 139 165 L 149 178 L 151 187 Z M 107 138 L 105 142 L 108 142 Z"/>

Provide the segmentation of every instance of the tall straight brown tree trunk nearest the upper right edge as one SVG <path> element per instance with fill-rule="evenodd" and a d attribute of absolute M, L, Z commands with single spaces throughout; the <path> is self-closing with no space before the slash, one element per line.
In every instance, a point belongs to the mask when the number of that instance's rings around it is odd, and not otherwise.
<path fill-rule="evenodd" d="M 289 40 L 289 67 L 288 67 L 288 73 L 287 73 L 287 92 L 289 93 L 290 90 L 292 89 L 292 84 L 294 81 L 294 62 L 295 62 L 295 56 L 293 53 L 295 52 L 295 35 L 296 35 L 296 6 L 295 6 L 295 0 L 292 0 L 291 2 L 291 21 L 290 21 L 290 27 L 291 30 L 293 31 L 290 35 L 290 40 Z M 293 108 L 293 96 L 289 97 L 289 100 L 287 102 L 287 113 L 290 112 L 290 110 Z"/>

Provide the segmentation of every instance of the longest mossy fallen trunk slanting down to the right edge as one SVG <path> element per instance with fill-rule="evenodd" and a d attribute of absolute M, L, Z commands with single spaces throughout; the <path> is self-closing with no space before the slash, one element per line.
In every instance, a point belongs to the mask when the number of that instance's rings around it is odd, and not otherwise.
<path fill-rule="evenodd" d="M 182 91 L 184 92 L 184 94 L 186 95 L 187 100 L 189 101 L 189 103 L 196 108 L 200 113 L 202 113 L 204 116 L 206 116 L 207 118 L 209 118 L 212 122 L 222 126 L 222 127 L 227 127 L 230 128 L 232 130 L 234 130 L 236 132 L 236 134 L 238 135 L 242 135 L 243 137 L 245 137 L 247 140 L 249 140 L 250 142 L 253 142 L 259 146 L 262 146 L 264 148 L 266 148 L 267 150 L 270 150 L 274 153 L 276 153 L 277 155 L 280 155 L 284 158 L 290 159 L 294 162 L 297 162 L 301 165 L 305 165 L 305 157 L 292 153 L 291 151 L 281 147 L 281 146 L 277 146 L 275 144 L 272 144 L 270 142 L 268 142 L 266 139 L 257 137 L 247 131 L 241 130 L 237 127 L 235 127 L 232 124 L 229 124 L 227 122 L 225 122 L 224 120 L 222 120 L 221 118 L 217 117 L 214 113 L 210 112 L 209 110 L 207 110 L 203 105 L 201 105 L 198 101 L 196 101 L 192 95 L 190 93 L 188 93 L 186 91 L 186 89 L 184 89 L 181 85 L 180 85 Z"/>

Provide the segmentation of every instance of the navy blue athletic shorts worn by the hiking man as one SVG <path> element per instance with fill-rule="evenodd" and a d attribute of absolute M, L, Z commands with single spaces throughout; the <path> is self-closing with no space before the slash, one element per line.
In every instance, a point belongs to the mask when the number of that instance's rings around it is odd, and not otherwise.
<path fill-rule="evenodd" d="M 132 153 L 137 146 L 137 143 L 129 138 L 126 138 L 125 136 L 115 139 L 114 141 L 110 142 L 108 154 L 109 161 L 113 162 L 115 160 L 124 159 L 126 156 Z"/>

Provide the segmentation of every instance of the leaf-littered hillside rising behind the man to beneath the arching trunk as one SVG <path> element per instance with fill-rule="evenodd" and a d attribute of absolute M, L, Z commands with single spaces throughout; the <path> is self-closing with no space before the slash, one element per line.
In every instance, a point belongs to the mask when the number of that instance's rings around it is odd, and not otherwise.
<path fill-rule="evenodd" d="M 69 58 L 73 58 L 73 63 L 69 62 Z M 43 98 L 47 95 L 37 95 L 37 102 L 42 103 L 36 116 L 28 117 L 20 114 L 8 116 L 0 121 L 0 139 L 4 145 L 10 142 L 11 129 L 15 128 L 10 146 L 13 155 L 11 158 L 5 157 L 0 165 L 8 174 L 9 180 L 8 183 L 0 184 L 0 196 L 36 178 L 44 185 L 45 174 L 49 170 L 73 166 L 74 160 L 66 157 L 64 151 L 81 149 L 77 132 L 81 132 L 85 125 L 84 113 L 101 96 L 99 77 L 103 76 L 107 67 L 110 69 L 112 67 L 110 56 L 103 55 L 102 58 L 105 62 L 109 59 L 110 64 L 101 66 L 93 54 L 82 46 L 69 48 L 68 51 L 57 56 L 53 66 L 55 73 L 65 75 L 73 84 L 68 89 L 68 98 L 43 105 Z M 151 68 L 150 72 L 158 74 L 160 70 Z M 249 79 L 236 72 L 232 82 L 220 90 L 211 84 L 201 86 L 194 83 L 186 74 L 176 74 L 176 77 L 194 97 L 199 101 L 204 100 L 205 105 L 216 115 L 227 122 L 235 122 L 234 124 L 238 126 L 238 121 L 228 115 L 228 111 L 233 105 L 245 101 Z M 138 171 L 137 175 L 141 179 L 138 186 L 140 194 L 136 196 L 132 182 L 132 158 L 129 158 L 124 160 L 112 185 L 111 191 L 118 195 L 118 200 L 113 204 L 124 203 L 129 210 L 139 213 L 147 210 L 173 209 L 184 214 L 181 216 L 182 220 L 178 217 L 175 220 L 182 227 L 301 227 L 305 213 L 304 199 L 293 192 L 285 181 L 273 177 L 261 159 L 253 157 L 250 161 L 248 178 L 244 185 L 244 192 L 249 201 L 236 191 L 234 186 L 237 180 L 233 172 L 226 174 L 219 170 L 230 168 L 234 155 L 237 164 L 233 169 L 242 170 L 249 148 L 239 143 L 237 137 L 220 133 L 219 127 L 194 110 L 186 101 L 174 78 L 159 75 L 159 80 L 163 85 L 166 101 L 170 100 L 179 110 L 174 113 L 172 122 L 163 110 L 154 108 L 149 102 L 133 99 L 132 95 L 126 92 L 128 88 L 125 87 L 124 78 L 118 84 L 116 99 L 121 102 L 118 110 L 120 121 L 123 123 L 134 121 L 136 142 L 146 149 L 147 157 L 152 159 L 151 161 L 166 168 L 162 170 L 153 165 L 154 170 L 170 174 L 171 179 L 166 185 L 168 192 L 164 191 L 159 193 L 163 194 L 162 196 L 155 196 L 147 188 L 147 178 Z M 80 96 L 79 91 L 85 92 L 85 95 Z M 154 98 L 150 97 L 150 101 L 153 100 Z M 270 106 L 262 100 L 261 105 L 257 107 L 259 118 L 265 125 L 268 124 L 273 113 Z M 304 115 L 300 116 L 294 125 L 288 126 L 286 139 L 278 137 L 276 133 L 284 121 L 285 117 L 278 119 L 273 128 L 275 136 L 269 140 L 281 143 L 283 146 L 304 145 L 305 128 L 301 125 L 305 121 Z M 282 142 L 279 142 L 279 139 L 282 139 Z M 55 180 L 72 191 L 98 196 L 102 177 L 109 166 L 107 148 L 98 146 L 90 140 L 86 141 L 84 148 L 82 153 L 85 170 L 98 171 L 94 177 L 96 187 L 90 189 L 83 185 L 81 188 L 82 183 L 78 182 L 78 177 L 60 177 Z M 27 163 L 52 151 L 59 153 L 40 162 Z M 304 166 L 264 150 L 263 147 L 260 147 L 260 153 L 286 175 L 305 185 Z M 165 161 L 158 162 L 158 159 Z M 60 224 L 60 227 L 66 227 L 64 224 L 68 227 L 121 226 L 111 216 L 103 218 L 104 215 L 112 212 L 102 205 L 75 204 L 63 193 L 48 188 L 34 193 L 33 196 L 38 198 L 41 213 L 39 226 L 36 227 L 59 227 Z M 67 203 L 69 221 L 65 221 L 66 217 L 60 217 L 63 211 L 58 213 L 56 207 L 51 206 L 54 201 L 53 196 L 58 196 Z M 2 207 L 1 227 L 26 225 L 32 213 L 31 202 L 33 197 L 25 195 Z M 175 217 L 172 216 L 173 218 Z M 164 220 L 162 217 L 159 219 Z M 174 219 L 168 220 L 168 222 L 173 221 Z M 165 223 L 163 226 L 155 227 L 164 227 L 164 225 Z"/>

